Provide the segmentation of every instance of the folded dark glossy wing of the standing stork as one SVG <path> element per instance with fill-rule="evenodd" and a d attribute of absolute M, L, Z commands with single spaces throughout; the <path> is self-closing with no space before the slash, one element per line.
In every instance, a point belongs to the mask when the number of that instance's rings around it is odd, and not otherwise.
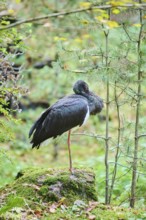
<path fill-rule="evenodd" d="M 29 132 L 33 134 L 32 147 L 39 147 L 41 142 L 75 126 L 81 126 L 88 112 L 87 101 L 81 98 L 64 98 L 47 109 L 35 122 Z"/>

